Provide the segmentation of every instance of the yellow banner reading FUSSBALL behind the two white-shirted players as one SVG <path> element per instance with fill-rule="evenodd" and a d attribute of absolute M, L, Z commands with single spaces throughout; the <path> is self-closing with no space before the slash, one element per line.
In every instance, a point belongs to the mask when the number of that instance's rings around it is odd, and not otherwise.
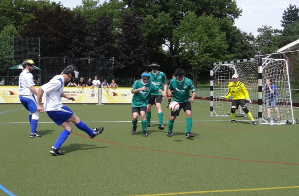
<path fill-rule="evenodd" d="M 38 90 L 39 87 L 36 87 Z M 75 97 L 75 101 L 61 98 L 62 103 L 94 103 L 98 104 L 99 96 L 98 88 L 78 88 L 78 87 L 64 87 L 63 93 L 65 95 Z M 45 94 L 44 94 L 45 96 Z M 44 96 L 43 99 L 44 100 Z M 0 87 L 0 103 L 21 103 L 19 99 L 18 86 L 3 86 Z"/>

